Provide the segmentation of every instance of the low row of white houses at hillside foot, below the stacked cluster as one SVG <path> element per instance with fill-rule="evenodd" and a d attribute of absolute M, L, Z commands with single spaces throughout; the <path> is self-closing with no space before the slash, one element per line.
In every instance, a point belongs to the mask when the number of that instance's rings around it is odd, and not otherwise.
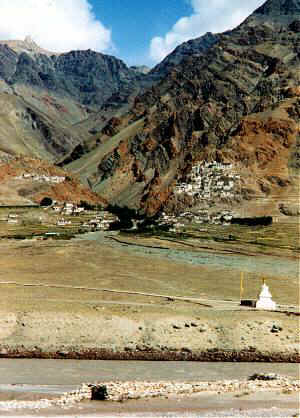
<path fill-rule="evenodd" d="M 200 209 L 194 212 L 183 212 L 179 216 L 162 212 L 157 224 L 158 226 L 169 226 L 171 232 L 178 232 L 187 224 L 195 224 L 195 226 L 197 224 L 230 225 L 233 217 L 234 214 L 229 210 L 210 213 L 208 210 Z"/>

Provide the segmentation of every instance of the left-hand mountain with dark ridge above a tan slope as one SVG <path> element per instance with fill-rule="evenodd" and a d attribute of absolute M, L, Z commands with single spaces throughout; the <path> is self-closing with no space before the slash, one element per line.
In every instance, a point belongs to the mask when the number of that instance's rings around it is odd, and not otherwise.
<path fill-rule="evenodd" d="M 121 60 L 91 50 L 55 54 L 30 38 L 0 42 L 0 101 L 7 103 L 0 150 L 60 161 L 88 136 L 89 127 L 75 124 L 140 78 Z"/>

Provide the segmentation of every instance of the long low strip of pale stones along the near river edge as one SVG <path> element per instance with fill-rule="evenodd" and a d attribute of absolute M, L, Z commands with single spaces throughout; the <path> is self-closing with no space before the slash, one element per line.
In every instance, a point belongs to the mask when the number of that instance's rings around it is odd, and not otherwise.
<path fill-rule="evenodd" d="M 141 382 L 115 381 L 107 383 L 82 384 L 59 399 L 40 401 L 7 401 L 0 402 L 1 410 L 13 409 L 45 409 L 50 407 L 68 408 L 84 400 L 125 401 L 129 399 L 169 397 L 174 395 L 192 395 L 201 392 L 230 393 L 284 391 L 292 393 L 300 391 L 300 381 L 276 374 L 255 374 L 248 380 L 225 380 L 217 382 Z M 99 396 L 95 396 L 95 394 Z"/>

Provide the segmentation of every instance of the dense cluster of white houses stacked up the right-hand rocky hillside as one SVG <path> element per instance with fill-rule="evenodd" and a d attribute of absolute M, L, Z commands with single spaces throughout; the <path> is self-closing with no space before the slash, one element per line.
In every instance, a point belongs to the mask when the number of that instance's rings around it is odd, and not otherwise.
<path fill-rule="evenodd" d="M 175 186 L 175 196 L 186 194 L 196 200 L 229 200 L 240 192 L 240 176 L 232 164 L 216 161 L 195 165 L 186 182 Z"/>

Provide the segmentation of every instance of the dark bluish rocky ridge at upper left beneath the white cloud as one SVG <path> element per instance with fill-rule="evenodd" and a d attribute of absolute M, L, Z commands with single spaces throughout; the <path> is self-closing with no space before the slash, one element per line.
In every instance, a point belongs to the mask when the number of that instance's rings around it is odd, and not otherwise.
<path fill-rule="evenodd" d="M 10 85 L 30 85 L 68 95 L 89 106 L 100 106 L 114 92 L 134 83 L 138 76 L 121 60 L 91 50 L 71 51 L 60 55 L 19 54 L 0 45 L 3 70 L 1 76 Z"/>

